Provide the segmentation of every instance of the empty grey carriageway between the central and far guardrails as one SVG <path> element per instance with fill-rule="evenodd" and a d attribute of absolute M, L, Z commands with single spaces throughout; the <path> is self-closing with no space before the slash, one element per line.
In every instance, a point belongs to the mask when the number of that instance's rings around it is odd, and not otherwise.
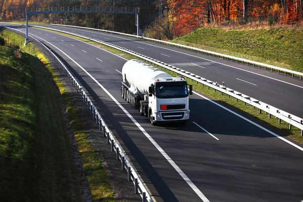
<path fill-rule="evenodd" d="M 259 99 L 262 102 L 296 116 L 303 117 L 303 108 L 301 107 L 303 82 L 300 80 L 153 42 L 135 40 L 102 32 L 59 26 L 47 27 L 55 27 L 78 34 L 85 34 L 89 37 L 104 40 L 115 45 L 128 47 L 132 51 L 174 65 L 214 82 L 217 81 L 221 84 L 224 81 L 225 86 L 229 88 Z M 249 72 L 243 70 L 248 70 Z"/>

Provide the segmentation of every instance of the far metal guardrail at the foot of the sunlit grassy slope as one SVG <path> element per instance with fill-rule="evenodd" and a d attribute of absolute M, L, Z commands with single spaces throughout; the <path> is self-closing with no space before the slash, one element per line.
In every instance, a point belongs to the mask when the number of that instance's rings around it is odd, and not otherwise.
<path fill-rule="evenodd" d="M 218 58 L 222 58 L 222 59 L 227 59 L 227 60 L 230 60 L 232 62 L 233 61 L 236 61 L 237 63 L 240 62 L 242 64 L 247 64 L 247 66 L 248 65 L 252 65 L 254 67 L 258 66 L 259 68 L 261 68 L 261 67 L 265 68 L 265 70 L 267 70 L 267 69 L 270 69 L 271 71 L 275 70 L 278 73 L 284 72 L 285 75 L 288 73 L 292 77 L 298 76 L 300 78 L 300 80 L 302 79 L 302 76 L 303 76 L 303 73 L 301 73 L 301 72 L 288 70 L 288 69 L 285 69 L 285 68 L 276 67 L 276 66 L 268 65 L 268 64 L 264 64 L 264 63 L 259 63 L 259 62 L 255 62 L 255 61 L 251 61 L 251 60 L 246 60 L 246 59 L 243 59 L 243 58 L 228 56 L 228 55 L 224 55 L 224 54 L 220 54 L 220 53 L 216 53 L 216 52 L 212 52 L 212 51 L 207 51 L 207 50 L 204 50 L 204 49 L 195 48 L 195 47 L 191 47 L 191 46 L 187 46 L 187 45 L 181 45 L 181 44 L 178 44 L 178 43 L 172 43 L 172 42 L 168 42 L 168 41 L 163 41 L 163 40 L 158 40 L 158 39 L 153 39 L 153 38 L 147 38 L 147 37 L 137 36 L 137 35 L 132 35 L 132 34 L 125 34 L 125 33 L 120 33 L 120 32 L 115 32 L 115 31 L 108 31 L 108 30 L 103 30 L 103 29 L 94 29 L 94 28 L 88 28 L 88 27 L 60 25 L 60 24 L 51 24 L 51 25 L 63 26 L 63 27 L 73 27 L 73 28 L 87 29 L 87 30 L 93 30 L 93 31 L 102 31 L 102 32 L 107 32 L 107 33 L 111 33 L 111 34 L 118 34 L 118 35 L 134 37 L 134 38 L 153 41 L 153 42 L 157 42 L 157 43 L 161 43 L 161 44 L 165 44 L 165 45 L 169 45 L 169 46 L 188 49 L 189 51 L 193 51 L 193 52 L 201 53 L 201 54 L 206 54 L 206 55 L 210 55 L 210 56 L 214 56 L 214 57 L 218 57 Z"/>

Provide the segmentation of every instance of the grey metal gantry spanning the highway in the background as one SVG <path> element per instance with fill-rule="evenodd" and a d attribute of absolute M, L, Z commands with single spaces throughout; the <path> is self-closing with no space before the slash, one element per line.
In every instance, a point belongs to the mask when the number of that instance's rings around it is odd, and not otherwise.
<path fill-rule="evenodd" d="M 137 35 L 139 35 L 139 8 L 117 7 L 42 7 L 26 9 L 26 38 L 28 43 L 28 15 L 35 14 L 65 14 L 65 13 L 108 13 L 108 14 L 136 14 Z"/>

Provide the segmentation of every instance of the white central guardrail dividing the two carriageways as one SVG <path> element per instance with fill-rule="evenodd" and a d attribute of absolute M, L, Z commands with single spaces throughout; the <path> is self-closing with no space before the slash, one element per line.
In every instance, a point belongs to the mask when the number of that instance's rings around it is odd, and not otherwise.
<path fill-rule="evenodd" d="M 24 25 L 24 24 L 19 24 L 19 25 Z M 301 130 L 301 135 L 303 136 L 303 119 L 302 118 L 294 116 L 292 114 L 289 114 L 289 113 L 287 113 L 283 110 L 280 110 L 278 108 L 275 108 L 273 106 L 270 106 L 266 103 L 261 102 L 258 99 L 255 99 L 253 97 L 245 95 L 241 92 L 237 92 L 233 89 L 227 88 L 224 85 L 219 85 L 217 82 L 210 81 L 206 78 L 195 75 L 195 74 L 190 73 L 188 71 L 179 69 L 177 67 L 171 66 L 171 65 L 166 64 L 164 62 L 161 62 L 161 61 L 158 61 L 156 59 L 153 59 L 153 58 L 144 56 L 142 54 L 136 53 L 134 51 L 131 51 L 127 48 L 120 47 L 118 45 L 114 45 L 114 44 L 111 44 L 111 43 L 108 43 L 108 42 L 105 42 L 105 41 L 102 41 L 102 40 L 94 39 L 94 38 L 91 38 L 91 37 L 88 37 L 88 36 L 85 36 L 85 35 L 75 34 L 75 33 L 72 33 L 72 32 L 67 32 L 67 31 L 60 30 L 60 29 L 53 29 L 53 28 L 41 27 L 41 26 L 35 26 L 35 25 L 30 25 L 30 26 L 31 27 L 48 29 L 48 30 L 53 30 L 53 31 L 59 31 L 59 32 L 70 34 L 70 35 L 78 36 L 78 37 L 81 37 L 81 38 L 85 38 L 85 39 L 88 39 L 88 40 L 91 40 L 91 41 L 95 41 L 95 42 L 101 43 L 103 45 L 107 45 L 109 47 L 118 49 L 119 51 L 122 51 L 124 53 L 133 55 L 133 56 L 135 56 L 135 57 L 137 57 L 137 58 L 139 58 L 143 61 L 150 62 L 152 64 L 155 64 L 155 65 L 158 65 L 158 66 L 163 67 L 165 69 L 176 72 L 180 75 L 183 75 L 187 78 L 190 78 L 191 80 L 195 80 L 197 83 L 207 85 L 207 86 L 209 86 L 209 88 L 212 87 L 212 88 L 214 88 L 214 90 L 220 91 L 221 94 L 225 93 L 225 94 L 228 94 L 229 96 L 235 97 L 237 100 L 238 99 L 242 100 L 244 102 L 244 104 L 248 103 L 249 105 L 253 106 L 254 108 L 255 107 L 258 108 L 260 110 L 260 113 L 262 111 L 265 111 L 266 113 L 268 113 L 269 118 L 271 117 L 271 115 L 277 117 L 279 119 L 279 123 L 281 123 L 281 120 L 285 121 L 286 123 L 289 123 L 289 129 L 291 129 L 292 126 L 295 126 L 295 127 L 299 128 Z"/>

